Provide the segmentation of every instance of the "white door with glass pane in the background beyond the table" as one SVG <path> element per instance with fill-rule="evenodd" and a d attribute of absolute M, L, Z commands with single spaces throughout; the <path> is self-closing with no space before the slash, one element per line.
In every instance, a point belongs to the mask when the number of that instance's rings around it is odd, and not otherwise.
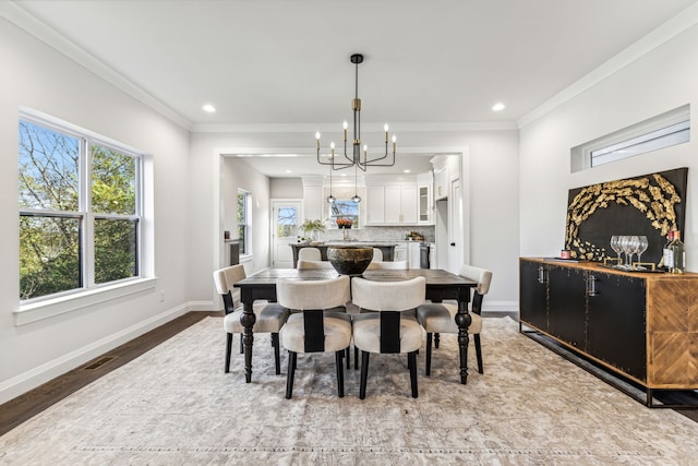
<path fill-rule="evenodd" d="M 298 241 L 301 201 L 272 202 L 272 267 L 292 268 L 293 251 L 289 244 Z"/>

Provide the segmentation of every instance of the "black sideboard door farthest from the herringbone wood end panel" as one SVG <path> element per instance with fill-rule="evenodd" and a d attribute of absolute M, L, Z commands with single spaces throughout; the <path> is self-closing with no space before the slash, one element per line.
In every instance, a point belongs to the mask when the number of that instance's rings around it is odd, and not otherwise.
<path fill-rule="evenodd" d="M 531 261 L 519 264 L 520 319 L 547 332 L 547 267 Z"/>

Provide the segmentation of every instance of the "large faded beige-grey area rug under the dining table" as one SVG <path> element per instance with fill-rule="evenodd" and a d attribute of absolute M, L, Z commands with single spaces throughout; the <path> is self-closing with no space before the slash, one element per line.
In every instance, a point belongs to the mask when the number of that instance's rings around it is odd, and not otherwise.
<path fill-rule="evenodd" d="M 300 356 L 293 398 L 257 335 L 224 373 L 221 319 L 207 318 L 0 438 L 3 465 L 695 465 L 698 423 L 649 409 L 485 319 L 485 371 L 458 375 L 454 335 L 410 397 L 407 358 L 374 355 L 336 396 L 334 355 Z M 237 338 L 236 338 L 237 343 Z M 472 351 L 471 351 L 472 353 Z M 471 355 L 471 367 L 476 367 Z M 286 355 L 282 356 L 286 363 Z M 284 366 L 282 372 L 286 372 Z"/>

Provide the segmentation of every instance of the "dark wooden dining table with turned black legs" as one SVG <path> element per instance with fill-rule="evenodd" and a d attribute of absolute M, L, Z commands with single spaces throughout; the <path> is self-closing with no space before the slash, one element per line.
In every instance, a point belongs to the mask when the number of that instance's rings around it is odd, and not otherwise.
<path fill-rule="evenodd" d="M 248 276 L 234 284 L 240 288 L 240 301 L 242 302 L 242 315 L 240 324 L 243 326 L 242 343 L 244 345 L 244 375 L 245 382 L 252 382 L 252 346 L 254 334 L 252 327 L 256 316 L 252 304 L 256 300 L 276 302 L 276 282 L 279 278 L 290 279 L 328 279 L 339 274 L 333 268 L 299 270 L 299 268 L 265 268 Z M 458 274 L 438 268 L 410 268 L 410 270 L 368 270 L 362 278 L 376 282 L 401 282 L 414 277 L 424 277 L 426 280 L 426 299 L 432 302 L 442 302 L 444 299 L 456 300 L 458 312 L 455 316 L 458 326 L 458 347 L 460 349 L 460 383 L 468 383 L 468 327 L 472 321 L 468 312 L 471 289 L 478 283 Z"/>

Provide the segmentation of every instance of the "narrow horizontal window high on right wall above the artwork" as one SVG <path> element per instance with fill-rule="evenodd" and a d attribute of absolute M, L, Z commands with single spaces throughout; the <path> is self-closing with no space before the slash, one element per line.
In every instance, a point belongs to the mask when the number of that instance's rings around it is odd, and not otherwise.
<path fill-rule="evenodd" d="M 612 162 L 690 140 L 690 107 L 685 105 L 649 120 L 599 138 L 571 150 L 571 171 Z"/>

